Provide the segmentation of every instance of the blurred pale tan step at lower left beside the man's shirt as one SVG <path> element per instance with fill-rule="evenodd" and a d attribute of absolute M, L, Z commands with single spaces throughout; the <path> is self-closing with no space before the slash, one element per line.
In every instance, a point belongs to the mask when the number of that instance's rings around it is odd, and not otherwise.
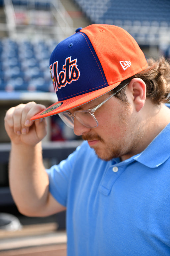
<path fill-rule="evenodd" d="M 0 230 L 0 255 L 6 250 L 49 245 L 66 245 L 65 230 L 57 230 L 56 223 L 24 225 L 21 230 Z"/>

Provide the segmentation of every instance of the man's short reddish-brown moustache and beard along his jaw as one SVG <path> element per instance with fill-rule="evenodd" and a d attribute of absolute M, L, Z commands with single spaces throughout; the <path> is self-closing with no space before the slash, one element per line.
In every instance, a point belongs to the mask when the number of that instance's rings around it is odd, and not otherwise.
<path fill-rule="evenodd" d="M 137 119 L 134 118 L 132 120 L 132 118 L 129 117 L 127 120 L 127 118 L 128 117 L 125 118 L 125 114 L 121 116 L 120 126 L 113 134 L 110 134 L 110 136 L 104 136 L 104 138 L 102 138 L 96 131 L 91 130 L 89 133 L 82 135 L 82 139 L 87 141 L 98 140 L 91 148 L 94 149 L 98 158 L 104 161 L 110 161 L 118 157 L 126 157 L 126 159 L 128 159 L 138 153 L 138 147 L 141 144 L 144 133 L 142 133 L 142 124 Z M 129 125 L 130 121 L 131 124 Z M 124 128 L 122 130 L 121 124 L 123 123 Z M 134 129 L 135 126 L 136 129 Z"/>

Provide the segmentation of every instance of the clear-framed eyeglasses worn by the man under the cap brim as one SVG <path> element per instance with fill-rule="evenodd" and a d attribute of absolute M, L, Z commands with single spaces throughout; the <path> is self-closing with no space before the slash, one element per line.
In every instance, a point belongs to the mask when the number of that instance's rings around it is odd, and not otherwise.
<path fill-rule="evenodd" d="M 111 99 L 116 93 L 118 93 L 120 90 L 122 90 L 126 85 L 119 88 L 117 91 L 115 91 L 113 94 L 111 94 L 108 98 L 106 98 L 103 102 L 101 102 L 99 105 L 92 109 L 87 110 L 77 110 L 73 113 L 70 113 L 69 111 L 65 111 L 62 113 L 59 113 L 59 117 L 61 120 L 70 128 L 74 128 L 74 118 L 76 118 L 82 125 L 84 125 L 87 128 L 96 128 L 99 123 L 94 115 L 94 112 L 100 108 L 105 102 L 107 102 L 109 99 Z"/>

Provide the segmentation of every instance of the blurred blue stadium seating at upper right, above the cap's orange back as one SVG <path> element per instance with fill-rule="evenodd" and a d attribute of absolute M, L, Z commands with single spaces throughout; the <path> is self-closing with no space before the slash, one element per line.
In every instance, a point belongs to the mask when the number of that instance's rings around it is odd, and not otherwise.
<path fill-rule="evenodd" d="M 91 23 L 126 29 L 139 45 L 160 45 L 170 34 L 170 0 L 74 0 Z M 162 36 L 163 34 L 163 36 Z M 169 36 L 170 38 L 170 36 Z M 169 51 L 164 51 L 170 57 Z"/>

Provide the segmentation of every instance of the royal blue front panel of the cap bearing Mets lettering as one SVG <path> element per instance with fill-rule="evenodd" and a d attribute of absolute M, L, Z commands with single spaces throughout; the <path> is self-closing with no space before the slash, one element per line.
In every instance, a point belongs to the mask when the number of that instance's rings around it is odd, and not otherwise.
<path fill-rule="evenodd" d="M 108 86 L 96 52 L 82 32 L 56 46 L 50 57 L 50 70 L 59 101 Z"/>

